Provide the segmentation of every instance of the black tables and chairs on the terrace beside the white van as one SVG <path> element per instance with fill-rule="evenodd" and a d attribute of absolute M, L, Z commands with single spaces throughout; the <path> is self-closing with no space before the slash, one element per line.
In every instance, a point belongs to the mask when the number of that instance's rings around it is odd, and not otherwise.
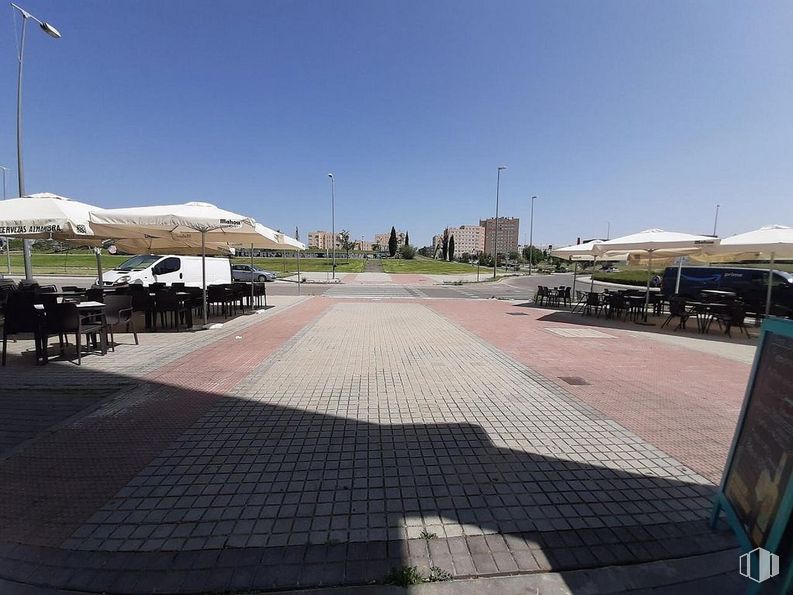
<path fill-rule="evenodd" d="M 115 351 L 119 330 L 131 333 L 138 345 L 139 331 L 189 330 L 203 315 L 202 289 L 183 283 L 58 289 L 55 285 L 0 281 L 2 365 L 6 365 L 8 341 L 32 339 L 35 362 L 46 364 L 49 341 L 57 337 L 59 356 L 80 364 L 87 353 Z M 209 315 L 225 320 L 261 307 L 267 307 L 264 283 L 207 287 Z"/>

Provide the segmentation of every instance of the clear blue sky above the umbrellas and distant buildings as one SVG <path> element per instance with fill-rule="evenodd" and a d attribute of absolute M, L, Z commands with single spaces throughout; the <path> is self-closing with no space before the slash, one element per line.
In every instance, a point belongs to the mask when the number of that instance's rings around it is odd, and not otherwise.
<path fill-rule="evenodd" d="M 793 225 L 789 0 L 19 0 L 28 192 L 204 200 L 301 237 L 428 244 L 500 213 L 535 244 Z M 16 48 L 0 165 L 16 195 Z"/>

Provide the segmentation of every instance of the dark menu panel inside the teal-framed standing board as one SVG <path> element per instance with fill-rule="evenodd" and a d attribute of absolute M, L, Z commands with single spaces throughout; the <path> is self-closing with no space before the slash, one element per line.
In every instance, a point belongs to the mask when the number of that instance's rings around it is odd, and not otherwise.
<path fill-rule="evenodd" d="M 724 480 L 750 543 L 763 546 L 793 477 L 793 337 L 766 332 Z"/>

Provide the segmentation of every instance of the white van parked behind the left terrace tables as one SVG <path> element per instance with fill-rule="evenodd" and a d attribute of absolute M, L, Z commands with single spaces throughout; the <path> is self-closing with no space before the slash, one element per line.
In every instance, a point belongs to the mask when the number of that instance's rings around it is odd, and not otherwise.
<path fill-rule="evenodd" d="M 207 285 L 231 283 L 231 261 L 228 258 L 207 257 Z M 124 261 L 102 275 L 102 285 L 173 282 L 186 287 L 201 287 L 201 257 L 172 254 L 139 254 Z"/>

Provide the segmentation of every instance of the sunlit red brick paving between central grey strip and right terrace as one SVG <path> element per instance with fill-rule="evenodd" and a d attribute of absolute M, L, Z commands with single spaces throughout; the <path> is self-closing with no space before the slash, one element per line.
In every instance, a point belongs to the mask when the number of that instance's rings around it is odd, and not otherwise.
<path fill-rule="evenodd" d="M 497 301 L 425 303 L 710 481 L 720 480 L 750 366 L 610 328 L 598 330 L 616 339 L 560 337 L 544 329 L 585 327 L 538 320 L 547 310 Z M 568 385 L 560 376 L 590 384 Z"/>

